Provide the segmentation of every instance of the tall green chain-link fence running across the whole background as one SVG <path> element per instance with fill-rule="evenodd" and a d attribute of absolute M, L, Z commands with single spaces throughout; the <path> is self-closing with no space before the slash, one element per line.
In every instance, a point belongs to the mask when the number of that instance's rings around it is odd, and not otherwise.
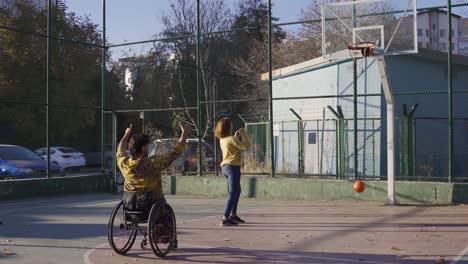
<path fill-rule="evenodd" d="M 181 122 L 194 132 L 167 173 L 219 175 L 214 128 L 229 117 L 252 141 L 246 174 L 384 180 L 394 166 L 398 180 L 465 181 L 468 3 L 418 1 L 407 33 L 419 51 L 385 57 L 382 76 L 373 57 L 323 59 L 323 45 L 348 52 L 336 34 L 322 41 L 321 6 L 335 2 L 0 0 L 0 177 L 118 172 L 128 124 L 158 154 Z M 357 21 L 414 18 L 402 2 L 357 9 Z M 402 43 L 372 30 L 363 36 Z M 383 80 L 394 98 L 393 165 Z M 37 164 L 14 165 L 12 153 Z"/>

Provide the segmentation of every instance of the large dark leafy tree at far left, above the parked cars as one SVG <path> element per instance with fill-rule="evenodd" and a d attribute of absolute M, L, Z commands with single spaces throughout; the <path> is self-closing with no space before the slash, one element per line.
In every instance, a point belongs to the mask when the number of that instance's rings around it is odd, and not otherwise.
<path fill-rule="evenodd" d="M 13 10 L 13 11 L 12 11 Z M 0 93 L 2 98 L 45 103 L 47 78 L 47 13 L 28 0 L 16 1 L 12 10 L 0 10 Z M 100 105 L 102 39 L 88 17 L 54 7 L 51 41 L 51 141 L 53 144 L 98 145 L 100 111 L 67 105 Z M 20 31 L 5 29 L 17 28 Z M 81 45 L 56 38 L 86 42 Z M 27 105 L 27 104 L 26 104 Z M 0 120 L 10 127 L 7 140 L 30 148 L 45 145 L 45 107 L 2 104 Z M 38 131 L 39 130 L 39 131 Z M 94 134 L 95 135 L 95 134 Z M 96 140 L 90 140 L 96 139 Z"/>

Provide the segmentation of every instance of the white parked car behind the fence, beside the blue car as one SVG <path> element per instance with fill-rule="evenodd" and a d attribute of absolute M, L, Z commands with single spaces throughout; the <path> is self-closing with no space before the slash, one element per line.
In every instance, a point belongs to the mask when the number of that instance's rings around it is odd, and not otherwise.
<path fill-rule="evenodd" d="M 40 148 L 34 151 L 38 156 L 47 160 L 47 148 Z M 84 154 L 69 147 L 51 147 L 50 161 L 65 169 L 79 169 L 86 166 Z"/>

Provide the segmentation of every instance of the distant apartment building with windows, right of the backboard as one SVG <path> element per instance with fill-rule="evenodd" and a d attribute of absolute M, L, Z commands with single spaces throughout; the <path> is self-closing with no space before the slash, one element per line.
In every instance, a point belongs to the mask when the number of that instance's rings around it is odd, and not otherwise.
<path fill-rule="evenodd" d="M 466 44 L 466 38 L 461 34 L 461 29 L 465 27 L 463 21 L 465 19 L 461 16 L 452 14 L 452 45 L 449 45 L 447 12 L 440 9 L 431 9 L 419 13 L 418 46 L 443 52 L 452 49 L 454 54 L 459 54 Z"/>

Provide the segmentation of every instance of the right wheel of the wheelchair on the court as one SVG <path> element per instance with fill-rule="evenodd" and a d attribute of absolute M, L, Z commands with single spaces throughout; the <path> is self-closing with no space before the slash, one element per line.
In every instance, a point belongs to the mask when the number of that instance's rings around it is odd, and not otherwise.
<path fill-rule="evenodd" d="M 158 257 L 165 257 L 177 240 L 176 219 L 171 206 L 157 202 L 150 212 L 148 235 L 151 249 Z"/>

